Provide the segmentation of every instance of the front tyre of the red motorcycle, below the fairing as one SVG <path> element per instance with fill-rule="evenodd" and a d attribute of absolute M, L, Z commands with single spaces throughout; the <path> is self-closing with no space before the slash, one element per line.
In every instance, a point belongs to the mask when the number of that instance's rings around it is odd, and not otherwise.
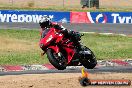
<path fill-rule="evenodd" d="M 48 49 L 47 50 L 47 57 L 49 59 L 49 62 L 58 70 L 64 70 L 66 69 L 66 59 L 61 56 L 58 56 L 58 53 L 55 53 L 53 49 Z"/>

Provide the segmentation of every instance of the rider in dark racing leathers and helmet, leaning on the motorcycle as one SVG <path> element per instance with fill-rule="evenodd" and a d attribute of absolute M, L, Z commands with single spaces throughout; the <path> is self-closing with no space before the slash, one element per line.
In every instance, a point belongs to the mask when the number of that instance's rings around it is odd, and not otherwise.
<path fill-rule="evenodd" d="M 71 30 L 68 31 L 62 25 L 51 22 L 51 19 L 48 16 L 43 16 L 42 19 L 39 21 L 39 25 L 41 27 L 40 33 L 41 33 L 42 38 L 47 34 L 49 28 L 55 28 L 55 29 L 60 30 L 61 33 L 63 33 L 65 37 L 71 38 L 71 40 L 77 45 L 78 49 L 81 49 L 81 44 L 79 42 L 80 41 L 80 34 L 78 32 L 74 32 Z"/>

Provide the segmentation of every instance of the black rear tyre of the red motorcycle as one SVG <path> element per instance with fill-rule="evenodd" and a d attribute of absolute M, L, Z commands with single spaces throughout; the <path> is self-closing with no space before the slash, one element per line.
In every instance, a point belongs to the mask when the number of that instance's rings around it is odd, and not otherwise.
<path fill-rule="evenodd" d="M 84 47 L 84 51 L 88 51 L 89 54 L 81 54 L 80 62 L 85 68 L 93 69 L 97 65 L 96 57 L 94 53 L 86 46 Z"/>

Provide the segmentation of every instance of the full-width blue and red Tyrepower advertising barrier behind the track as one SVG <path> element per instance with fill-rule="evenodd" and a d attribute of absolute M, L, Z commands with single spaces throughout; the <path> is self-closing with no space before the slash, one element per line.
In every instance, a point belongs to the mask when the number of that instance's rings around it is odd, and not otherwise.
<path fill-rule="evenodd" d="M 132 12 L 58 12 L 0 10 L 0 22 L 38 23 L 42 16 L 61 23 L 132 23 Z"/>

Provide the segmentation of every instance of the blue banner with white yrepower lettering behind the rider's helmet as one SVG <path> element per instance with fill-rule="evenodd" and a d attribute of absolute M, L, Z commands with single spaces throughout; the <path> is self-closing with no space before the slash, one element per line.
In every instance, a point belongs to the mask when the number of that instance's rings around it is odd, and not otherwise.
<path fill-rule="evenodd" d="M 49 16 L 53 22 L 70 22 L 70 12 L 0 10 L 0 22 L 38 23 L 42 16 Z"/>

